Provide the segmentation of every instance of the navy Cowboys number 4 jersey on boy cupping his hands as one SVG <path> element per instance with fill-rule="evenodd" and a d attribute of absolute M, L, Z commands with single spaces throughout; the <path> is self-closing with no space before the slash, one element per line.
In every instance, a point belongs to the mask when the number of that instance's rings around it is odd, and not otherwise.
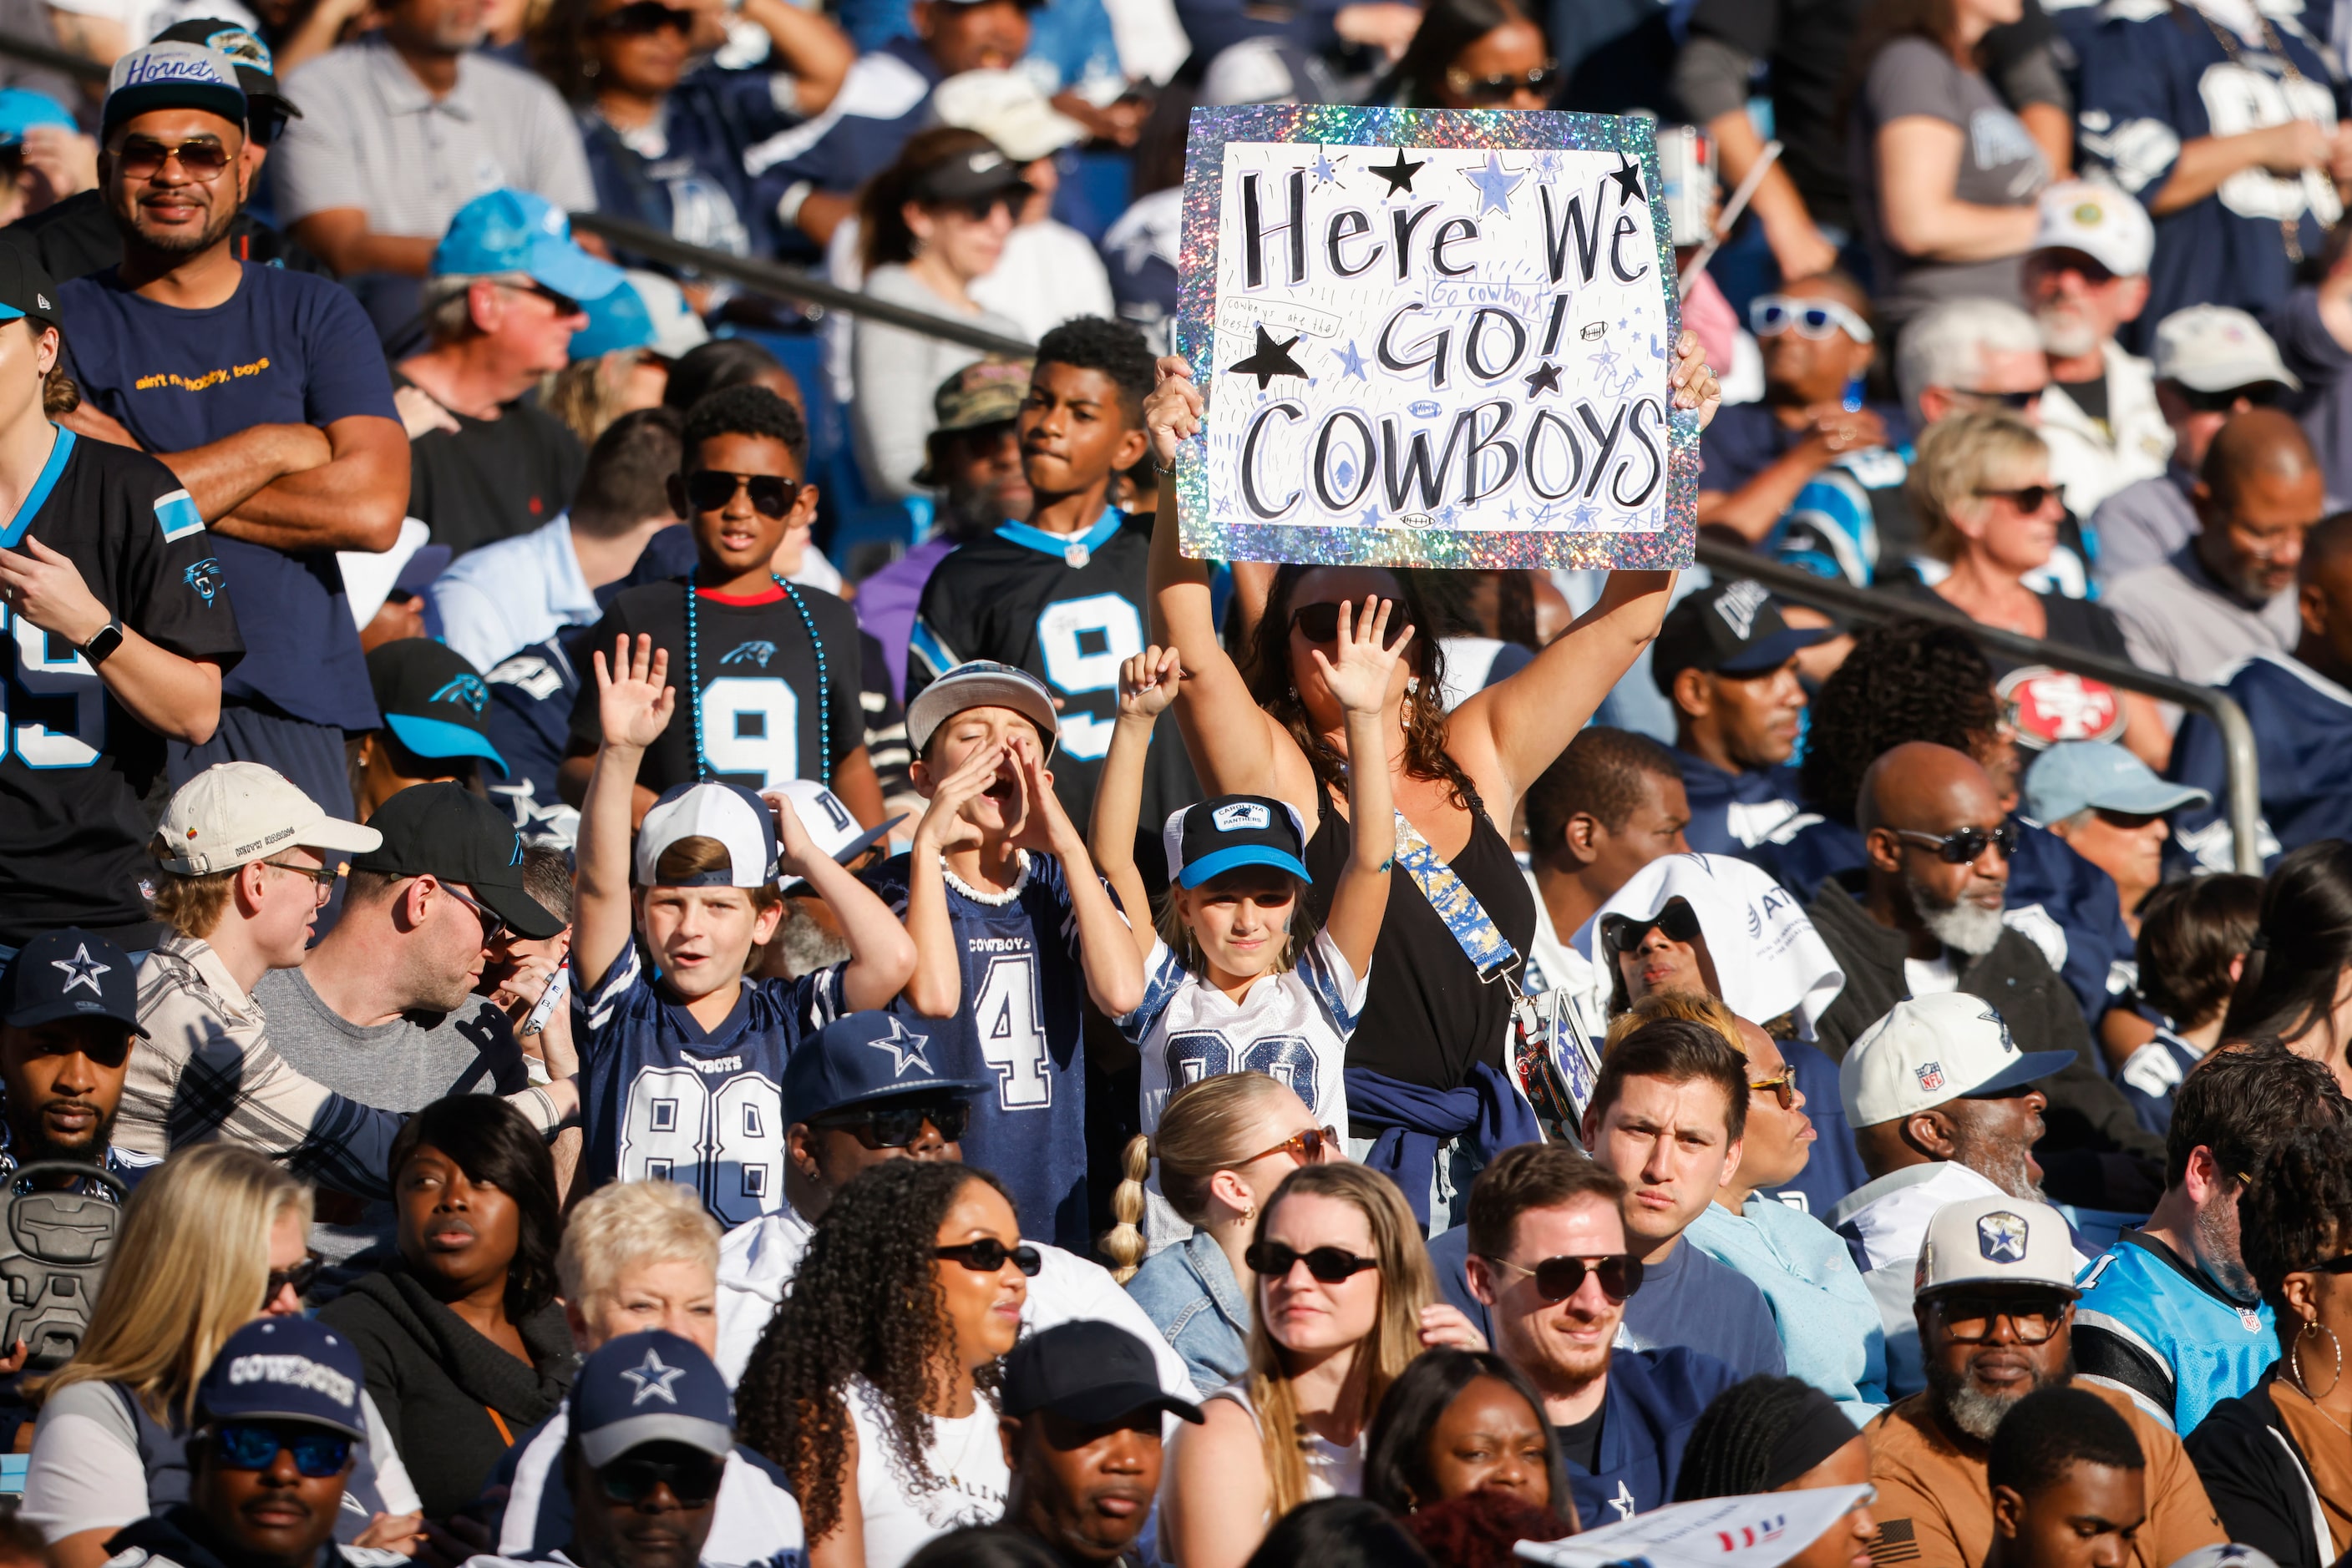
<path fill-rule="evenodd" d="M 908 863 L 894 856 L 866 877 L 901 919 Z M 1084 1258 L 1094 1251 L 1080 1051 L 1087 976 L 1061 860 L 1028 856 L 1004 893 L 976 893 L 948 875 L 948 924 L 964 978 L 955 1018 L 924 1018 L 906 997 L 891 1011 L 931 1037 L 943 1077 L 993 1086 L 971 1107 L 964 1164 L 1004 1182 L 1023 1237 Z"/>

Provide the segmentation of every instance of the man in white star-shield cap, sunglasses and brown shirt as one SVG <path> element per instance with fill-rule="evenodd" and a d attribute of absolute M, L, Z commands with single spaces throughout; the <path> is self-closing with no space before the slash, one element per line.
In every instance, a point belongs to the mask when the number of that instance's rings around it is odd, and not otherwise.
<path fill-rule="evenodd" d="M 2074 1380 L 2074 1258 L 2056 1208 L 2013 1197 L 1945 1204 L 1929 1222 L 1912 1316 L 1929 1387 L 1870 1422 L 1875 1563 L 1976 1568 L 1992 1552 L 1990 1439 L 2034 1389 Z M 2117 1568 L 2161 1568 L 2227 1535 L 2171 1427 L 2119 1389 L 2147 1460 L 2147 1519 Z M 2107 1559 L 2100 1559 L 2107 1561 Z"/>

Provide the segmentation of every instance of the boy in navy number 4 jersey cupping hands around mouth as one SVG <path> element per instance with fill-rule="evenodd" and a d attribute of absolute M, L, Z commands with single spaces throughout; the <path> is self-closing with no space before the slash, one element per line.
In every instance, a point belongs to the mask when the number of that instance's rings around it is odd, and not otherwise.
<path fill-rule="evenodd" d="M 1011 1190 L 1023 1234 L 1089 1255 L 1080 992 L 1131 1013 L 1143 959 L 1054 795 L 1054 698 L 1021 670 L 969 663 L 931 682 L 906 710 L 931 809 L 870 882 L 915 938 L 891 1011 L 929 1041 L 934 1072 L 995 1086 L 964 1161 Z"/>

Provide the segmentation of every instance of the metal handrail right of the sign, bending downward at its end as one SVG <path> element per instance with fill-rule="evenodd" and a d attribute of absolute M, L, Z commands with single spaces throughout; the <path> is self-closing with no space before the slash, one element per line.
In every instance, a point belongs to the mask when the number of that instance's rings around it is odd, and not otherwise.
<path fill-rule="evenodd" d="M 2180 708 L 2194 708 L 2213 719 L 2213 729 L 2220 731 L 2227 755 L 2230 839 L 2237 870 L 2249 877 L 2263 875 L 2263 846 L 2258 842 L 2263 790 L 2253 752 L 2253 724 L 2246 722 L 2246 710 L 2230 701 L 2230 696 L 2218 686 L 2192 686 L 2190 682 L 2173 679 L 2171 675 L 2150 675 L 2147 670 L 2122 658 L 2084 654 L 2082 649 L 2063 642 L 2044 642 L 2039 637 L 2004 632 L 1997 625 L 1971 621 L 1966 614 L 1940 602 L 1931 604 L 1924 599 L 1903 599 L 1877 588 L 1856 588 L 1853 583 L 1839 578 L 1813 576 L 1804 567 L 1790 567 L 1788 562 L 1752 555 L 1738 545 L 1726 545 L 1708 536 L 1698 538 L 1698 562 L 1722 578 L 1755 578 L 1783 599 L 1795 599 L 1797 604 L 1811 604 L 1842 616 L 1860 616 L 1863 621 L 1933 621 L 1936 625 L 1950 625 L 1969 632 L 1987 649 L 2006 654 L 2009 658 L 2072 670 L 2074 675 L 2089 675 L 2107 682 L 2110 686 L 2122 686 L 2124 691 L 2143 691 L 2166 703 L 2178 703 Z"/>

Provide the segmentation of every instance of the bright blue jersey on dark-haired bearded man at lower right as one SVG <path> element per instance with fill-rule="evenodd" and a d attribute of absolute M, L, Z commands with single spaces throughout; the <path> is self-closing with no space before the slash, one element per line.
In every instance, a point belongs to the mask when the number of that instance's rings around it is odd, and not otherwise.
<path fill-rule="evenodd" d="M 2077 1284 L 2074 1375 L 2131 1394 L 2180 1436 L 2279 1359 L 2270 1307 L 2230 1300 L 2140 1232 L 2124 1232 Z"/>

